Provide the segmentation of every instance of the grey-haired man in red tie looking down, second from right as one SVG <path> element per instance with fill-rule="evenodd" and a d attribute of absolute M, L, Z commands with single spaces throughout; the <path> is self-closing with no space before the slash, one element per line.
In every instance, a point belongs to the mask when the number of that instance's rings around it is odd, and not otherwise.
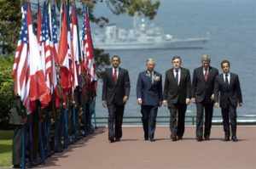
<path fill-rule="evenodd" d="M 210 139 L 212 127 L 212 112 L 214 104 L 214 82 L 218 70 L 210 65 L 211 58 L 204 54 L 201 58 L 201 67 L 195 68 L 192 80 L 191 101 L 196 104 L 196 140 L 202 141 L 203 116 L 205 110 L 205 140 Z"/>

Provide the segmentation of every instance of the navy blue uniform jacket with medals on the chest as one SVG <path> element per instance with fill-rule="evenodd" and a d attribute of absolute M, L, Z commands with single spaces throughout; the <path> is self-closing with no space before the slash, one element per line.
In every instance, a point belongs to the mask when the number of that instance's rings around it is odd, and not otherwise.
<path fill-rule="evenodd" d="M 143 105 L 158 105 L 163 100 L 162 76 L 154 71 L 152 83 L 148 71 L 141 72 L 137 78 L 137 99 L 143 99 Z"/>

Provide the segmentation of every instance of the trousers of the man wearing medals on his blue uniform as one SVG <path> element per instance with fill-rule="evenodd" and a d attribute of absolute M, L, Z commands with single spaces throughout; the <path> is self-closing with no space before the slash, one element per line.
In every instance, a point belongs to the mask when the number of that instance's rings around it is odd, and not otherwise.
<path fill-rule="evenodd" d="M 154 138 L 158 105 L 142 105 L 144 138 Z"/>

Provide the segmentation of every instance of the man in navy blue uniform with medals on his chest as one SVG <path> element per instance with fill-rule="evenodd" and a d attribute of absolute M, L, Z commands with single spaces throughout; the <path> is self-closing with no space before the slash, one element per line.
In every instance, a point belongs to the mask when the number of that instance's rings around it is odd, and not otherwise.
<path fill-rule="evenodd" d="M 147 59 L 147 70 L 137 78 L 137 103 L 143 115 L 144 138 L 154 142 L 154 131 L 158 107 L 162 104 L 162 76 L 154 70 L 154 59 Z"/>

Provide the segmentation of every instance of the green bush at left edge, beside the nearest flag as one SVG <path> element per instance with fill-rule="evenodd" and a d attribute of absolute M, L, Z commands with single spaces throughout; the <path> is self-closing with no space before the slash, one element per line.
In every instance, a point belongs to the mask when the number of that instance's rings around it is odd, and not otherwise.
<path fill-rule="evenodd" d="M 14 57 L 0 56 L 0 130 L 9 128 L 9 115 L 13 105 L 13 63 Z"/>

